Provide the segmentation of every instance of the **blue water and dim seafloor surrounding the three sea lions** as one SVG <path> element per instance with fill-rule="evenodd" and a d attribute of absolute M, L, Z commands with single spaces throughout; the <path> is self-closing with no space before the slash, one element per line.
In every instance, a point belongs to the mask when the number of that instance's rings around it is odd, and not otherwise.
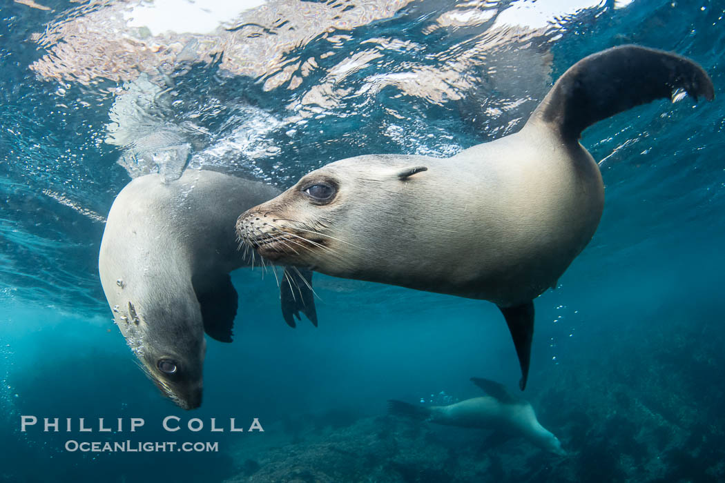
<path fill-rule="evenodd" d="M 134 2 L 34 5 L 0 5 L 0 479 L 725 479 L 725 2 L 537 1 L 539 27 L 516 10 L 526 1 L 289 0 L 216 33 L 144 30 L 123 16 Z M 286 188 L 357 154 L 450 156 L 515 132 L 568 66 L 621 43 L 695 59 L 716 99 L 640 106 L 581 140 L 603 160 L 605 211 L 536 301 L 525 393 L 567 458 L 384 416 L 391 398 L 481 395 L 473 376 L 515 387 L 487 302 L 316 275 L 320 327 L 293 330 L 274 278 L 241 269 L 236 340 L 209 341 L 202 408 L 176 408 L 136 368 L 97 274 L 103 219 L 132 176 L 188 164 Z M 22 415 L 146 424 L 20 432 Z M 165 432 L 170 415 L 207 427 Z M 265 432 L 207 430 L 231 417 Z M 65 450 L 126 439 L 219 450 Z"/>

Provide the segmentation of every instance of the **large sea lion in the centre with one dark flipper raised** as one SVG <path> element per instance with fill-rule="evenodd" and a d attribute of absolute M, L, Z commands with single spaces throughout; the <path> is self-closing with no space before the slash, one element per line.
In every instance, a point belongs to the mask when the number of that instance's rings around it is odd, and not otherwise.
<path fill-rule="evenodd" d="M 449 159 L 335 161 L 241 214 L 237 233 L 270 260 L 496 303 L 523 390 L 533 299 L 556 286 L 602 214 L 602 175 L 581 131 L 675 89 L 714 96 L 707 73 L 682 56 L 601 51 L 569 68 L 518 133 Z"/>

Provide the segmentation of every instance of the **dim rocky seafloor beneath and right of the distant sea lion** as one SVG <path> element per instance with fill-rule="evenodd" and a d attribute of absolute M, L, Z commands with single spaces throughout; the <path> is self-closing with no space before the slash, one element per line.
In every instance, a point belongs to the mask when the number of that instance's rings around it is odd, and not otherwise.
<path fill-rule="evenodd" d="M 566 457 L 522 439 L 494 445 L 484 431 L 341 412 L 240 453 L 228 482 L 725 481 L 725 337 L 707 322 L 638 327 L 582 349 L 527 395 Z"/>

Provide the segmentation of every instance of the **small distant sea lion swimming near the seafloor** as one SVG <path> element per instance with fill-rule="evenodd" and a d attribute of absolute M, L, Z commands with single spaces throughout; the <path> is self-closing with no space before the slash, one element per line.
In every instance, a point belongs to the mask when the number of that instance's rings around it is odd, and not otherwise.
<path fill-rule="evenodd" d="M 498 382 L 479 377 L 471 381 L 488 395 L 449 406 L 415 406 L 389 400 L 389 413 L 447 426 L 493 429 L 496 437 L 524 437 L 542 450 L 566 455 L 558 438 L 539 423 L 529 401 L 512 395 Z"/>

